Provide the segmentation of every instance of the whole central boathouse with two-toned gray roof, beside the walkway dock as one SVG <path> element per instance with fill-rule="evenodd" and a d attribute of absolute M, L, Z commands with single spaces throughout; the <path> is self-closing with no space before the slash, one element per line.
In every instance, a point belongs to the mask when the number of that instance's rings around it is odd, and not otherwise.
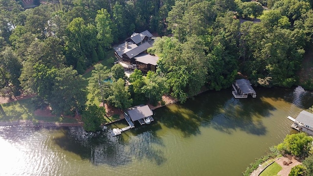
<path fill-rule="evenodd" d="M 132 121 L 138 121 L 140 125 L 149 124 L 154 121 L 152 118 L 153 112 L 148 105 L 138 105 L 127 110 Z"/>

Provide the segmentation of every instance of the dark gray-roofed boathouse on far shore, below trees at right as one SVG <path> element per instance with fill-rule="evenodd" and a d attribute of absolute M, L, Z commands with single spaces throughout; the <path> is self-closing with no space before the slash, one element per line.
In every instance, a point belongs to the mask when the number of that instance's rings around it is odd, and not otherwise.
<path fill-rule="evenodd" d="M 233 91 L 232 94 L 235 98 L 247 98 L 248 95 L 251 95 L 253 98 L 256 97 L 256 92 L 251 86 L 249 80 L 238 79 L 234 84 L 232 84 Z"/>

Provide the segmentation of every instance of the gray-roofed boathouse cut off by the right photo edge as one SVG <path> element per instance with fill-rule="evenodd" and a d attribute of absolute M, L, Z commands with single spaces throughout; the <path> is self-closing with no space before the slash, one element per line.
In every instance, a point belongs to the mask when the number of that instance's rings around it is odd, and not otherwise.
<path fill-rule="evenodd" d="M 294 120 L 294 123 L 291 125 L 291 127 L 299 132 L 306 132 L 310 135 L 313 135 L 313 113 L 302 110 Z"/>

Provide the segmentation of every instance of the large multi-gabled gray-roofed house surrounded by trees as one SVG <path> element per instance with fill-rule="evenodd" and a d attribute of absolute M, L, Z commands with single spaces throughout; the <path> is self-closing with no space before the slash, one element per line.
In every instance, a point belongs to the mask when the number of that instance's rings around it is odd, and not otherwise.
<path fill-rule="evenodd" d="M 158 57 L 147 54 L 147 49 L 153 44 L 152 37 L 148 30 L 133 33 L 125 43 L 114 47 L 115 57 L 119 62 L 135 65 L 143 72 L 156 71 Z"/>

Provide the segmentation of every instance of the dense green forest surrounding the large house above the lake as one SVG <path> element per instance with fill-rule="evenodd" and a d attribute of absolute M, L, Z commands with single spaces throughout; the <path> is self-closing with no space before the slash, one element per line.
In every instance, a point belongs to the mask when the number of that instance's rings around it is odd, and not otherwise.
<path fill-rule="evenodd" d="M 126 109 L 167 93 L 184 102 L 201 88 L 228 88 L 238 75 L 289 88 L 313 37 L 312 0 L 34 0 L 40 3 L 26 9 L 23 0 L 0 0 L 0 92 L 34 94 L 35 107 L 56 114 L 84 111 L 88 91 Z M 86 88 L 87 68 L 146 29 L 163 36 L 148 50 L 159 57 L 156 72 L 135 70 L 125 87 L 122 67 L 95 66 Z"/>

